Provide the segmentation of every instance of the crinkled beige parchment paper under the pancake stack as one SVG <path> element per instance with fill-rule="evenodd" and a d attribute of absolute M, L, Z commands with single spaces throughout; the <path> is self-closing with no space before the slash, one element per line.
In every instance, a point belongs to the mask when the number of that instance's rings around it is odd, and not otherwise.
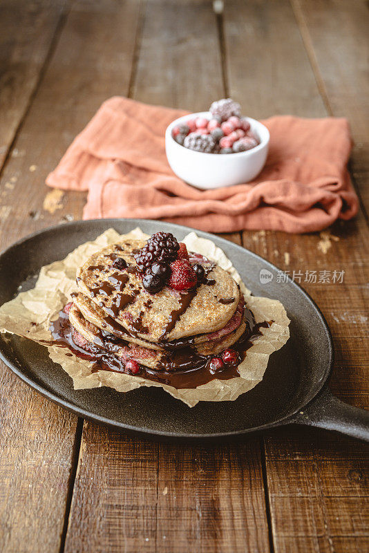
<path fill-rule="evenodd" d="M 4 303 L 0 308 L 0 332 L 10 332 L 35 341 L 52 339 L 48 327 L 50 321 L 57 319 L 61 308 L 70 301 L 70 294 L 77 292 L 75 276 L 77 268 L 93 253 L 102 247 L 112 244 L 120 238 L 148 238 L 140 228 L 129 234 L 120 235 L 114 229 L 106 232 L 91 242 L 86 242 L 68 254 L 65 259 L 55 261 L 41 268 L 35 288 L 21 292 L 15 299 Z M 173 397 L 182 400 L 189 407 L 199 401 L 233 401 L 258 382 L 261 382 L 269 355 L 280 349 L 290 337 L 285 309 L 280 301 L 263 297 L 254 297 L 240 279 L 224 252 L 214 242 L 199 238 L 195 232 L 188 234 L 183 242 L 187 249 L 199 252 L 208 259 L 216 261 L 220 267 L 227 270 L 245 295 L 247 307 L 252 310 L 256 322 L 274 321 L 270 328 L 262 328 L 263 335 L 258 337 L 254 345 L 247 350 L 245 360 L 238 366 L 240 377 L 229 380 L 214 379 L 197 388 L 177 390 L 173 386 L 159 384 L 151 380 L 108 371 L 91 372 L 92 363 L 79 359 L 66 348 L 48 346 L 50 358 L 59 363 L 64 371 L 73 379 L 75 389 L 110 386 L 119 392 L 128 392 L 140 386 L 160 386 Z"/>

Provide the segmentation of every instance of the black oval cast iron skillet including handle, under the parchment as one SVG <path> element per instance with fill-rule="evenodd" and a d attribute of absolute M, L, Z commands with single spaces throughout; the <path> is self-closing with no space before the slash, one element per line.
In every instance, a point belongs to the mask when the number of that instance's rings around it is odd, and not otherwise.
<path fill-rule="evenodd" d="M 189 232 L 187 227 L 133 219 L 78 221 L 37 232 L 0 255 L 0 304 L 15 297 L 19 286 L 32 288 L 42 265 L 63 259 L 109 227 L 125 233 L 138 225 L 148 234 L 165 230 L 178 239 Z M 1 359 L 32 388 L 76 415 L 151 438 L 204 443 L 294 422 L 369 441 L 369 411 L 344 404 L 328 388 L 332 337 L 314 301 L 296 283 L 278 283 L 276 267 L 256 254 L 212 234 L 198 234 L 225 251 L 254 295 L 281 300 L 291 319 L 290 340 L 270 357 L 263 382 L 252 391 L 234 402 L 200 402 L 189 409 L 160 388 L 75 391 L 46 348 L 17 336 L 1 335 Z M 267 283 L 261 283 L 263 269 L 273 277 Z"/>

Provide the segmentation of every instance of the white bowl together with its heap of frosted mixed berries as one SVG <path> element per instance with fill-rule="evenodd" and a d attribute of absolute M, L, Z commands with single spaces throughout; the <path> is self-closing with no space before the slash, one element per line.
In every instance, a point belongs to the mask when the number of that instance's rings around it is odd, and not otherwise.
<path fill-rule="evenodd" d="M 268 147 L 267 127 L 243 117 L 240 104 L 231 98 L 213 102 L 209 111 L 176 119 L 165 133 L 171 169 L 202 189 L 254 179 L 265 165 Z"/>

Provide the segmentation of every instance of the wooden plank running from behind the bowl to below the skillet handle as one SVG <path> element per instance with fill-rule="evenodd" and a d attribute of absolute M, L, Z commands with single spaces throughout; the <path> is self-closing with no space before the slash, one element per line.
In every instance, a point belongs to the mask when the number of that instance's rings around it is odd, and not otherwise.
<path fill-rule="evenodd" d="M 249 115 L 327 114 L 287 1 L 227 3 L 225 39 L 229 91 L 247 106 Z M 327 238 L 319 234 L 244 232 L 243 245 L 290 274 L 345 270 L 343 284 L 301 284 L 332 329 L 337 352 L 332 390 L 347 402 L 365 406 L 368 227 L 360 213 L 356 221 L 337 223 L 330 233 L 339 240 L 328 234 L 330 249 L 325 253 L 322 242 L 326 245 Z M 361 551 L 368 546 L 365 445 L 317 429 L 289 428 L 267 433 L 265 453 L 276 553 Z"/>

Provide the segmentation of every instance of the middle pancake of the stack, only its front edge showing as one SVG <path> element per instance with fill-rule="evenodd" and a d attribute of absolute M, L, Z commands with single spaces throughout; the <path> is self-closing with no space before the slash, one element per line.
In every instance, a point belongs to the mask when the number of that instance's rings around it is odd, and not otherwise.
<path fill-rule="evenodd" d="M 106 330 L 107 332 L 111 332 L 111 334 L 119 338 L 128 339 L 133 344 L 138 344 L 149 349 L 166 349 L 163 345 L 144 340 L 143 338 L 136 336 L 133 332 L 125 330 L 122 326 L 117 324 L 112 317 L 106 317 L 106 313 L 104 312 L 104 310 L 97 306 L 96 303 L 93 303 L 91 299 L 84 296 L 84 294 L 78 294 L 77 297 L 73 299 L 73 303 L 79 309 L 79 311 L 82 312 L 82 315 L 84 316 L 86 321 L 93 323 L 95 326 L 100 328 L 100 330 Z M 243 320 L 244 305 L 245 303 L 243 301 L 243 297 L 241 296 L 234 315 L 232 315 L 231 319 L 229 319 L 228 323 L 223 328 L 221 328 L 220 330 L 216 330 L 216 332 L 208 332 L 207 334 L 200 334 L 194 337 L 189 337 L 188 341 L 191 341 L 191 344 L 202 344 L 205 341 L 219 339 L 226 336 L 230 332 L 233 332 L 233 330 L 236 330 L 236 328 L 240 326 Z M 178 345 L 180 346 L 182 342 L 185 342 L 186 340 L 186 338 L 180 340 L 180 344 L 175 344 L 172 342 L 168 345 L 171 346 L 171 348 L 175 348 Z"/>

